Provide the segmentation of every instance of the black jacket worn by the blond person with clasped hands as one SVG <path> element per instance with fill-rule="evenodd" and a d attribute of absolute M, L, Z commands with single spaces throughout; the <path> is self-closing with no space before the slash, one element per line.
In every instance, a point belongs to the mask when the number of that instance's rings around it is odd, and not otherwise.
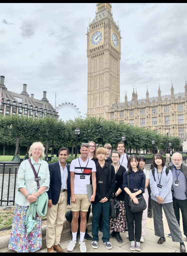
<path fill-rule="evenodd" d="M 92 203 L 97 203 L 103 197 L 106 197 L 109 200 L 110 195 L 114 192 L 114 189 L 115 189 L 115 169 L 113 165 L 110 165 L 107 162 L 104 163 L 104 167 L 101 170 L 103 184 L 98 183 L 100 179 L 100 164 L 97 162 L 95 166 L 96 166 L 96 195 L 95 195 L 95 200 Z M 108 175 L 109 166 L 111 166 L 110 175 Z M 105 191 L 105 194 L 103 195 L 103 197 L 101 196 L 101 189 Z"/>

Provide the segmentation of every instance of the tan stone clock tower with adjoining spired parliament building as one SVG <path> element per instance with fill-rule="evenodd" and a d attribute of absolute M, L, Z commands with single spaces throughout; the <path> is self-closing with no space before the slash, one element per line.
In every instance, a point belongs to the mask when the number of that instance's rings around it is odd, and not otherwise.
<path fill-rule="evenodd" d="M 174 93 L 144 99 L 132 92 L 131 101 L 120 99 L 120 30 L 112 17 L 111 3 L 97 3 L 95 17 L 87 30 L 87 115 L 101 116 L 106 120 L 129 123 L 160 133 L 183 138 L 187 128 L 187 83 L 183 93 Z"/>

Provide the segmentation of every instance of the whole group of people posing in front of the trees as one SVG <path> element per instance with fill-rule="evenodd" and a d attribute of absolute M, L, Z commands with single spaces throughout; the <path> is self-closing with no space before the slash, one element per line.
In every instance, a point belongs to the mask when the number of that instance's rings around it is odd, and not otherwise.
<path fill-rule="evenodd" d="M 110 237 L 122 243 L 120 233 L 128 231 L 129 249 L 141 251 L 144 241 L 150 185 L 153 208 L 154 232 L 159 237 L 157 243 L 165 241 L 162 209 L 169 226 L 169 237 L 180 243 L 180 251 L 185 245 L 179 228 L 182 213 L 183 232 L 187 236 L 187 167 L 182 163 L 179 153 L 172 155 L 172 162 L 165 166 L 161 154 L 153 157 L 154 168 L 149 172 L 144 168 L 143 155 L 128 155 L 125 145 L 119 141 L 112 151 L 109 143 L 96 148 L 94 141 L 82 143 L 80 156 L 66 163 L 69 150 L 61 147 L 59 160 L 48 164 L 41 158 L 44 147 L 34 142 L 29 149 L 29 159 L 21 162 L 17 174 L 15 211 L 8 248 L 17 252 L 34 252 L 41 248 L 41 216 L 35 214 L 35 226 L 29 233 L 25 226 L 28 206 L 42 193 L 48 195 L 47 203 L 47 252 L 64 252 L 60 246 L 66 205 L 72 210 L 72 239 L 67 251 L 73 251 L 79 234 L 80 252 L 86 252 L 84 238 L 91 241 L 92 248 L 98 248 L 98 230 L 102 231 L 102 242 L 107 249 L 112 248 Z M 36 174 L 34 175 L 34 169 Z M 38 183 L 39 182 L 39 183 Z M 39 184 L 39 185 L 38 185 Z M 92 184 L 92 195 L 88 199 L 88 186 Z M 138 196 L 144 196 L 146 208 L 132 212 L 129 199 L 138 204 Z M 110 216 L 110 199 L 116 197 L 119 214 Z M 87 233 L 87 222 L 92 205 L 92 237 Z M 111 232 L 110 232 L 111 231 Z"/>

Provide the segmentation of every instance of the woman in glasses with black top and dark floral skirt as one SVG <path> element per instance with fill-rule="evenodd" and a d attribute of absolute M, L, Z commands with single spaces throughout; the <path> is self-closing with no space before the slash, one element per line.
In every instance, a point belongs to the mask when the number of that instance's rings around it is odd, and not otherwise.
<path fill-rule="evenodd" d="M 117 218 L 110 217 L 110 237 L 115 237 L 118 242 L 122 242 L 119 232 L 126 230 L 126 211 L 124 207 L 124 190 L 122 189 L 123 173 L 126 171 L 125 167 L 119 164 L 120 153 L 113 151 L 111 153 L 112 165 L 115 169 L 115 196 L 119 203 L 119 215 Z"/>

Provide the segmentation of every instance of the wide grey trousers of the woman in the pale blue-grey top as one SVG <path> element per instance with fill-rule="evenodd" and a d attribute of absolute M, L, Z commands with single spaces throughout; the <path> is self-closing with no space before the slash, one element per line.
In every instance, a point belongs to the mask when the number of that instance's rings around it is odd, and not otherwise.
<path fill-rule="evenodd" d="M 169 226 L 173 242 L 183 242 L 182 234 L 174 214 L 172 202 L 158 204 L 156 201 L 152 200 L 154 234 L 159 237 L 164 236 L 162 208 L 167 219 L 167 224 Z"/>

